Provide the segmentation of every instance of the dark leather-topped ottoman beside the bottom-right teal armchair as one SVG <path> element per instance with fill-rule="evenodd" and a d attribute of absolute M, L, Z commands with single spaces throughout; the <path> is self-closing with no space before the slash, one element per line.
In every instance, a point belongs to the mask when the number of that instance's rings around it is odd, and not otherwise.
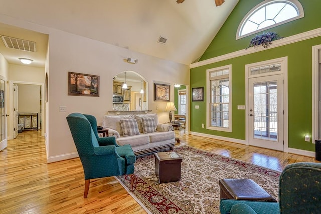
<path fill-rule="evenodd" d="M 274 197 L 251 179 L 222 179 L 219 180 L 219 185 L 221 199 L 277 202 Z"/>

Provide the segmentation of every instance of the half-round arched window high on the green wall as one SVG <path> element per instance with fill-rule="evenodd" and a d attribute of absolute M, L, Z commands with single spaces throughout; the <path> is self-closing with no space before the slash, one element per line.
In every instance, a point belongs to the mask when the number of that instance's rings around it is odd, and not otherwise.
<path fill-rule="evenodd" d="M 236 39 L 304 17 L 297 0 L 265 0 L 255 6 L 239 25 Z"/>

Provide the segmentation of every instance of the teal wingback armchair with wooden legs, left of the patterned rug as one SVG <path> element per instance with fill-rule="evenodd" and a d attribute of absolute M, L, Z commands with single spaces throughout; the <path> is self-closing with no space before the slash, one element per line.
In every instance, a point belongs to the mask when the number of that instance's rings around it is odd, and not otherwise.
<path fill-rule="evenodd" d="M 72 113 L 66 119 L 84 169 L 84 198 L 88 195 L 90 179 L 128 174 L 132 188 L 136 156 L 130 145 L 118 146 L 115 137 L 100 138 L 92 115 Z"/>

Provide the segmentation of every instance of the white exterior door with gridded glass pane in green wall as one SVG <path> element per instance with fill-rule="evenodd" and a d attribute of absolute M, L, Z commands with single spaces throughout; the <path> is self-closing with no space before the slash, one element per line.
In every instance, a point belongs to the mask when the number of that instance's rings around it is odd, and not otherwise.
<path fill-rule="evenodd" d="M 283 75 L 248 81 L 249 145 L 283 151 Z"/>

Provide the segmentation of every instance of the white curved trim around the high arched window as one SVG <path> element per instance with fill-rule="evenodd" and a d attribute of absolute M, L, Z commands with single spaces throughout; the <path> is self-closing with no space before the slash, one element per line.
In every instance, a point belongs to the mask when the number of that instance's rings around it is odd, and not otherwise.
<path fill-rule="evenodd" d="M 263 7 L 264 5 L 268 5 L 268 4 L 271 4 L 271 3 L 274 3 L 274 2 L 286 2 L 288 4 L 292 3 L 293 5 L 295 5 L 298 9 L 298 12 L 299 12 L 299 15 L 296 16 L 296 17 L 293 17 L 291 19 L 288 19 L 288 20 L 284 20 L 282 22 L 279 22 L 279 23 L 276 23 L 274 25 L 270 25 L 270 26 L 267 26 L 265 28 L 261 28 L 259 30 L 256 30 L 256 31 L 252 31 L 250 33 L 247 33 L 247 34 L 244 34 L 242 36 L 239 36 L 240 35 L 240 31 L 242 30 L 245 22 L 247 21 L 247 19 L 252 16 L 258 9 L 260 9 L 261 7 Z M 301 5 L 301 3 L 298 1 L 298 0 L 265 0 L 263 2 L 261 2 L 260 4 L 256 5 L 254 8 L 252 8 L 242 19 L 242 21 L 240 22 L 238 28 L 237 28 L 237 31 L 236 31 L 236 40 L 238 39 L 241 39 L 243 37 L 247 37 L 249 35 L 252 35 L 252 34 L 256 34 L 258 32 L 263 32 L 267 29 L 270 29 L 270 28 L 274 28 L 276 26 L 279 26 L 279 25 L 282 25 L 284 23 L 288 23 L 288 22 L 291 22 L 293 20 L 297 20 L 297 19 L 300 19 L 300 18 L 303 18 L 304 17 L 304 10 L 303 10 L 303 7 Z"/>

